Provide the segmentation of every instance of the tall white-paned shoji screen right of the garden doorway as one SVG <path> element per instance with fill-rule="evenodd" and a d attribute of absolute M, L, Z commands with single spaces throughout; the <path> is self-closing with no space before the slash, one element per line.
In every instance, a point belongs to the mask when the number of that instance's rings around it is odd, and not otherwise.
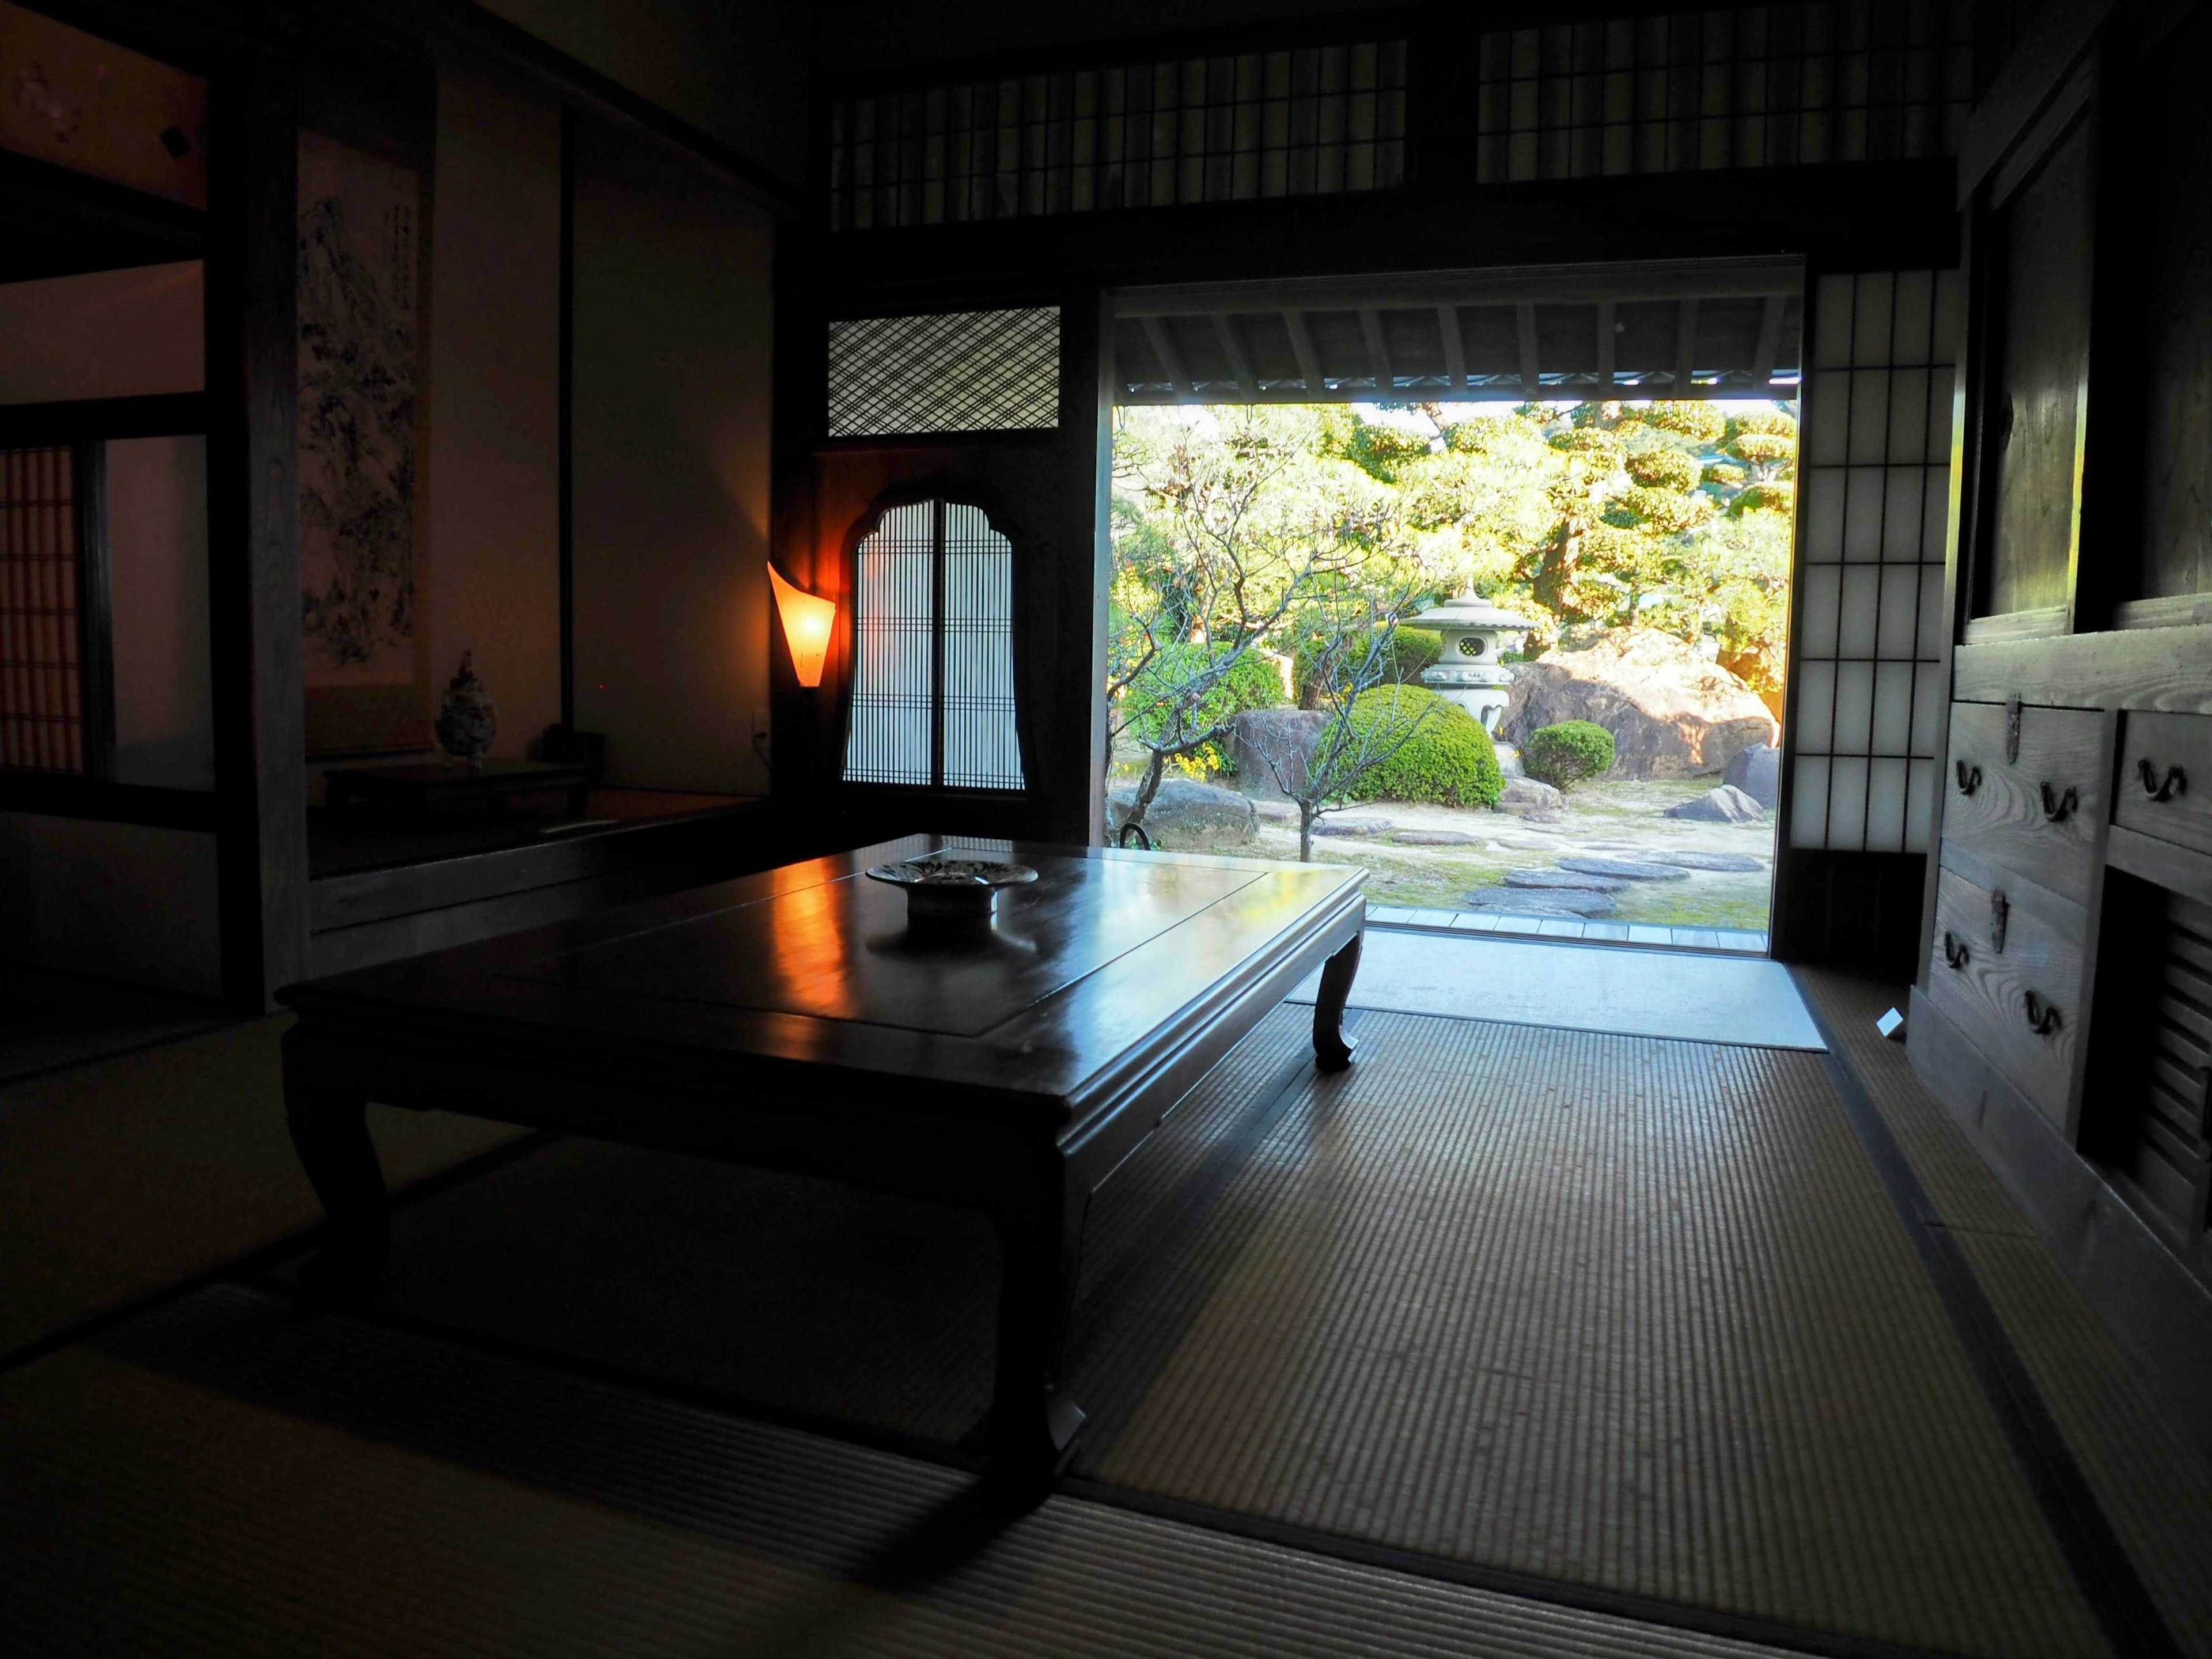
<path fill-rule="evenodd" d="M 1823 276 L 1812 325 L 1790 845 L 1927 852 L 1958 272 Z"/>

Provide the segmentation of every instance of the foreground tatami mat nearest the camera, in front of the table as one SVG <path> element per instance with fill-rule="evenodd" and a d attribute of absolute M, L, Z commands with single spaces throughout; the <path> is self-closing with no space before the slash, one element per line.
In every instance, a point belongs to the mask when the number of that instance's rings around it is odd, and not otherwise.
<path fill-rule="evenodd" d="M 1073 1498 L 1009 1513 L 956 1471 L 246 1292 L 0 1378 L 0 1628 L 40 1659 L 1781 1652 Z"/>

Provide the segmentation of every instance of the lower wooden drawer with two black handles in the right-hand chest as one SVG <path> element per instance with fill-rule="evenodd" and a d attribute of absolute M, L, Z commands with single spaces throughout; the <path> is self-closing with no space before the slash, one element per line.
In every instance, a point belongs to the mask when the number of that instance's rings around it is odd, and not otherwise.
<path fill-rule="evenodd" d="M 1929 1002 L 2062 1133 L 2081 1026 L 2086 920 L 2033 887 L 1991 891 L 1955 869 L 1936 878 Z"/>

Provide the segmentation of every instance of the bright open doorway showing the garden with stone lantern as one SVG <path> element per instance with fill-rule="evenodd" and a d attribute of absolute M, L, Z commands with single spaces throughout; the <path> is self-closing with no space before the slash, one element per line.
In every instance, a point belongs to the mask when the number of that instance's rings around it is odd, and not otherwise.
<path fill-rule="evenodd" d="M 1369 385 L 1117 407 L 1113 830 L 1358 863 L 1378 920 L 1765 951 L 1794 398 Z"/>

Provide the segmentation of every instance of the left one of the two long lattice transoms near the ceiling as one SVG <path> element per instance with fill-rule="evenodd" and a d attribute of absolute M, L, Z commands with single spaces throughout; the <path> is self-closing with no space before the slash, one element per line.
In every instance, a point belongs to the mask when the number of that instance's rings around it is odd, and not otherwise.
<path fill-rule="evenodd" d="M 830 228 L 1387 190 L 1405 179 L 1405 58 L 1365 40 L 845 97 Z"/>

